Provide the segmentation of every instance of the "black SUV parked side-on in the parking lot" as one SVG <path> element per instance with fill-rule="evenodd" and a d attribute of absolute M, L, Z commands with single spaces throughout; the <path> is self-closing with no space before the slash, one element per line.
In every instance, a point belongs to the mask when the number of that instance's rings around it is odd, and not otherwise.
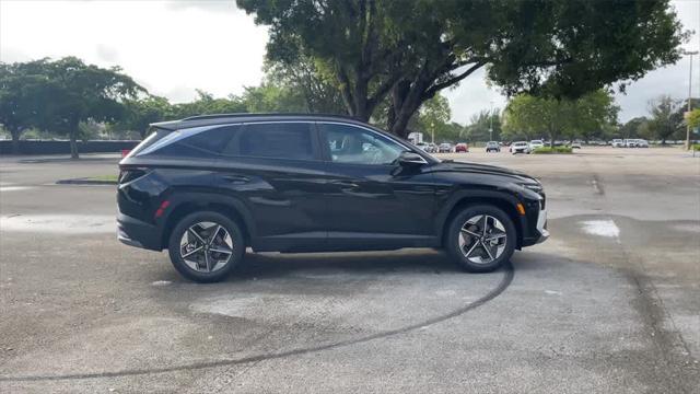
<path fill-rule="evenodd" d="M 118 237 L 196 281 L 255 252 L 438 247 L 469 271 L 547 239 L 539 182 L 440 161 L 361 121 L 217 115 L 152 125 L 119 163 Z"/>

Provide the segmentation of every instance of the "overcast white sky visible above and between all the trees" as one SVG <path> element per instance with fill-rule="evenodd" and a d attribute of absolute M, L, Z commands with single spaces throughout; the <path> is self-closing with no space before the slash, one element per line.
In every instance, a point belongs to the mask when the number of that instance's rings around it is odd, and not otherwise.
<path fill-rule="evenodd" d="M 680 21 L 700 32 L 700 0 L 674 1 Z M 217 96 L 238 94 L 262 78 L 267 30 L 237 10 L 233 0 L 172 1 L 26 1 L 0 0 L 0 60 L 78 56 L 103 67 L 118 65 L 151 93 L 185 102 L 195 89 Z M 686 44 L 700 46 L 696 34 Z M 650 72 L 617 95 L 620 120 L 645 115 L 650 100 L 661 94 L 688 95 L 688 58 Z M 693 59 L 700 71 L 700 59 Z M 695 72 L 693 94 L 700 94 Z M 503 107 L 505 97 L 475 73 L 443 93 L 453 120 Z"/>

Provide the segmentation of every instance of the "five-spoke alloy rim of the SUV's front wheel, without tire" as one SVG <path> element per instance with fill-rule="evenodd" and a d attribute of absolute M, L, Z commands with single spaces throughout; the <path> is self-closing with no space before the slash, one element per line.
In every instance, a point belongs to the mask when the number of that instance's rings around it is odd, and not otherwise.
<path fill-rule="evenodd" d="M 490 264 L 499 258 L 506 242 L 505 227 L 489 215 L 471 217 L 459 230 L 459 251 L 475 264 Z"/>

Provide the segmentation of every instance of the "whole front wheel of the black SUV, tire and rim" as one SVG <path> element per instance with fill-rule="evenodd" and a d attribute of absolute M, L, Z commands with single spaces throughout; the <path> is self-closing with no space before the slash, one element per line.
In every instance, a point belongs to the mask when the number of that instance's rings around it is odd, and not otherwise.
<path fill-rule="evenodd" d="M 515 251 L 517 234 L 513 220 L 494 206 L 464 209 L 453 218 L 447 231 L 447 252 L 471 273 L 498 269 Z"/>

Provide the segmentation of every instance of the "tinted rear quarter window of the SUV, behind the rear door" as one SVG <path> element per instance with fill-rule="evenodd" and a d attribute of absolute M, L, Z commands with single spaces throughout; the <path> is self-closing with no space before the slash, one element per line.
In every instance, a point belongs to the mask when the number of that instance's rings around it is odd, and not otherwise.
<path fill-rule="evenodd" d="M 224 152 L 240 126 L 221 126 L 182 138 L 155 151 L 156 154 L 211 158 Z M 177 131 L 176 131 L 177 132 Z M 179 132 L 187 132 L 183 130 Z"/>

